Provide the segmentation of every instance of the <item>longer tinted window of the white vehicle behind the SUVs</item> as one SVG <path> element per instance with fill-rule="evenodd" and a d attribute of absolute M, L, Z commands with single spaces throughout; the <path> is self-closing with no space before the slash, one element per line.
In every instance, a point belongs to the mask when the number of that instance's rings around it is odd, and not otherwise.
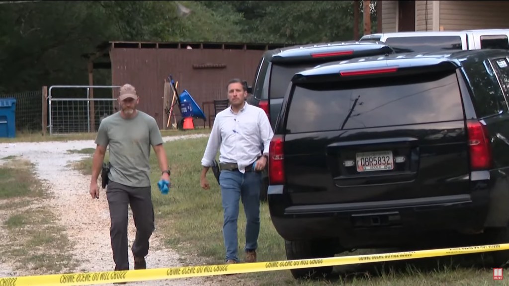
<path fill-rule="evenodd" d="M 385 40 L 396 52 L 461 50 L 460 36 L 394 37 Z"/>

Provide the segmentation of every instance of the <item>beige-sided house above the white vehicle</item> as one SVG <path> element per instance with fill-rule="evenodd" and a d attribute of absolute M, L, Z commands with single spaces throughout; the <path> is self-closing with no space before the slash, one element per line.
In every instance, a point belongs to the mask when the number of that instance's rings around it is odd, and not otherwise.
<path fill-rule="evenodd" d="M 509 28 L 509 1 L 379 1 L 379 33 Z"/>

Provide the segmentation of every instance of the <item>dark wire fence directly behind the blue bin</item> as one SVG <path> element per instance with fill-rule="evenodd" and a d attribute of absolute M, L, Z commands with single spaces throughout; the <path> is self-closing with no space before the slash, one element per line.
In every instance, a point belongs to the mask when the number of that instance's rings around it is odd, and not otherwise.
<path fill-rule="evenodd" d="M 5 98 L 16 99 L 16 131 L 41 131 L 42 90 L 0 94 L 0 99 Z"/>

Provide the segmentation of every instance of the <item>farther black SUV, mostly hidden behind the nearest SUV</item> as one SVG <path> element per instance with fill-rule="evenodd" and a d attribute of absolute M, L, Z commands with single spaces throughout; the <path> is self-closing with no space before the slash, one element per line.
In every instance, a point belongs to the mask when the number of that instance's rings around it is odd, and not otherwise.
<path fill-rule="evenodd" d="M 251 96 L 247 102 L 264 109 L 274 128 L 283 97 L 295 73 L 328 62 L 392 53 L 392 48 L 379 42 L 331 42 L 266 51 L 258 64 L 253 85 L 248 88 Z M 260 191 L 262 201 L 267 198 L 267 187 L 265 176 Z"/>

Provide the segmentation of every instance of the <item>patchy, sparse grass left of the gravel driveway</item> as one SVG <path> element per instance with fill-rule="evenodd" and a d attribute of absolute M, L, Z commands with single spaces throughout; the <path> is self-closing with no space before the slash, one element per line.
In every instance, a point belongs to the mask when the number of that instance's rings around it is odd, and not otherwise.
<path fill-rule="evenodd" d="M 0 167 L 0 226 L 3 228 L 0 255 L 17 269 L 37 274 L 72 271 L 71 246 L 64 229 L 46 207 L 48 195 L 35 177 L 30 162 L 11 160 Z"/>

